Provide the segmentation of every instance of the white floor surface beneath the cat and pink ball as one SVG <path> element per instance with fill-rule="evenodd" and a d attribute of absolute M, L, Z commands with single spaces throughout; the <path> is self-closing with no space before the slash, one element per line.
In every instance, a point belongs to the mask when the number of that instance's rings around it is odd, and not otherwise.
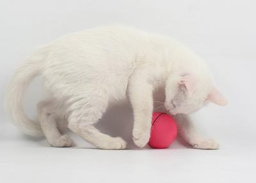
<path fill-rule="evenodd" d="M 256 148 L 250 141 L 239 148 L 236 142 L 224 141 L 220 150 L 195 150 L 179 141 L 165 150 L 148 147 L 98 150 L 79 138 L 75 140 L 77 147 L 53 148 L 45 139 L 4 134 L 0 141 L 0 182 L 240 183 L 256 180 Z"/>

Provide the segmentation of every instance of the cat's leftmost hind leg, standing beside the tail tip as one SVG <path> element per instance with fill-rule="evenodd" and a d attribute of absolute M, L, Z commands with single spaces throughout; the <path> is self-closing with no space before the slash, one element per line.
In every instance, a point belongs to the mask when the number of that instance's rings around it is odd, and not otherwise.
<path fill-rule="evenodd" d="M 54 100 L 44 100 L 38 103 L 38 118 L 45 138 L 52 147 L 71 147 L 72 139 L 67 135 L 61 135 L 57 120 L 57 109 Z"/>

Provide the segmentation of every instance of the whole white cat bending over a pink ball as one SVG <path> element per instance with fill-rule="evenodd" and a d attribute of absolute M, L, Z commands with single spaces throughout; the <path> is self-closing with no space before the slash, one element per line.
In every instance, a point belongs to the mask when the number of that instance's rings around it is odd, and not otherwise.
<path fill-rule="evenodd" d="M 40 123 L 22 109 L 22 96 L 36 76 L 42 76 L 51 99 L 38 104 Z M 70 147 L 58 124 L 99 148 L 122 149 L 124 139 L 97 130 L 109 104 L 129 99 L 134 113 L 134 143 L 150 138 L 153 92 L 165 88 L 164 107 L 175 115 L 180 136 L 195 148 L 216 149 L 218 143 L 200 136 L 186 116 L 207 102 L 225 105 L 205 63 L 172 39 L 138 29 L 109 26 L 88 29 L 56 40 L 34 52 L 12 78 L 8 109 L 26 134 L 43 134 L 53 147 Z"/>

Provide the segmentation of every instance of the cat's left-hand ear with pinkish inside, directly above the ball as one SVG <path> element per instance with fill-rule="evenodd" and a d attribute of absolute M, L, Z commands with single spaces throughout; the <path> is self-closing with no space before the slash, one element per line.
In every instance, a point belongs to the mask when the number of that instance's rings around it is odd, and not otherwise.
<path fill-rule="evenodd" d="M 184 74 L 179 81 L 179 85 L 185 88 L 189 97 L 191 97 L 192 93 L 195 92 L 195 80 L 195 77 L 191 74 Z"/>

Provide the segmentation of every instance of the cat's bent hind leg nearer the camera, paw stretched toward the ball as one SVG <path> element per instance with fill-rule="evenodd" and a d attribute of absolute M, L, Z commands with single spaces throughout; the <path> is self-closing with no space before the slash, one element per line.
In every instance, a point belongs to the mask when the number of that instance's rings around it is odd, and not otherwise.
<path fill-rule="evenodd" d="M 104 95 L 104 94 L 102 94 Z M 124 149 L 126 142 L 120 137 L 111 137 L 100 132 L 93 124 L 97 123 L 108 106 L 108 99 L 91 96 L 90 100 L 81 99 L 70 107 L 68 128 L 92 145 L 103 149 Z M 100 99 L 101 98 L 101 99 Z"/>

